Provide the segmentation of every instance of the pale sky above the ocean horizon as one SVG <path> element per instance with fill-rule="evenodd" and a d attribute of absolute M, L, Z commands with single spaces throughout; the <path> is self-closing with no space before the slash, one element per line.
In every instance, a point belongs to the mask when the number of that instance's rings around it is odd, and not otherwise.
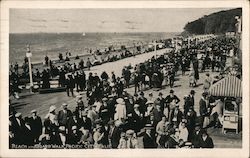
<path fill-rule="evenodd" d="M 10 33 L 182 32 L 186 23 L 228 9 L 10 9 Z"/>

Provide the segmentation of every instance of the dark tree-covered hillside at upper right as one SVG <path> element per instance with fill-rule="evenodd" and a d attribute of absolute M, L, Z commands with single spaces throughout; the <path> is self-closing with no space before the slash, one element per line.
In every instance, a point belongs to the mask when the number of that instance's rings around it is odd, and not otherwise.
<path fill-rule="evenodd" d="M 242 9 L 236 8 L 216 12 L 189 22 L 184 27 L 184 34 L 222 34 L 235 30 L 235 16 L 241 16 Z"/>

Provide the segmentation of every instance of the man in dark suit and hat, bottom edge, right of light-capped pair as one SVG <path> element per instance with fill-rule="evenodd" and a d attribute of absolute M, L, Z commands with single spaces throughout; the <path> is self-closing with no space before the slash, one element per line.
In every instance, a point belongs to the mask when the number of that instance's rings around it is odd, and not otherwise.
<path fill-rule="evenodd" d="M 152 135 L 153 127 L 151 125 L 145 126 L 145 134 L 143 136 L 143 146 L 144 148 L 157 148 L 155 136 Z"/>

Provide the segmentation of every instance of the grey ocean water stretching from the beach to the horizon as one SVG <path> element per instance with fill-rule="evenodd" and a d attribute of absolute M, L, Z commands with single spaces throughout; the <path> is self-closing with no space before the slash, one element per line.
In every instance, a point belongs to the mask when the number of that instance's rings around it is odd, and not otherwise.
<path fill-rule="evenodd" d="M 110 45 L 120 48 L 153 40 L 172 38 L 177 33 L 30 33 L 9 35 L 9 63 L 23 63 L 26 46 L 30 45 L 32 62 L 43 62 L 45 55 L 58 59 L 58 54 L 89 53 L 89 49 L 104 50 Z"/>

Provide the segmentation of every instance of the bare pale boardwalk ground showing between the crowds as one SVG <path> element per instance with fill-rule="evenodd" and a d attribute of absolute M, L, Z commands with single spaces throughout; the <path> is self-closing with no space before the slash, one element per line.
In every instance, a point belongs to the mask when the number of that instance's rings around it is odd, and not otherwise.
<path fill-rule="evenodd" d="M 157 55 L 161 55 L 165 53 L 166 50 L 160 50 L 157 51 Z M 93 73 L 100 73 L 102 71 L 106 71 L 109 75 L 112 71 L 117 74 L 117 76 L 121 76 L 121 69 L 123 66 L 128 65 L 131 63 L 132 66 L 135 64 L 138 64 L 140 62 L 143 62 L 152 56 L 154 56 L 156 53 L 155 52 L 150 52 L 146 54 L 141 54 L 137 55 L 135 57 L 130 57 L 126 59 L 122 59 L 116 62 L 112 63 L 106 63 L 103 65 L 99 66 L 94 66 L 91 68 L 90 71 L 86 71 L 86 74 L 89 72 Z M 210 72 L 211 76 L 218 75 L 217 73 L 212 73 Z M 199 99 L 201 97 L 201 94 L 203 92 L 202 89 L 202 82 L 205 78 L 205 73 L 200 74 L 200 80 L 198 81 L 198 87 L 194 88 L 196 91 L 195 95 L 195 111 L 199 115 Z M 175 94 L 181 99 L 181 102 L 179 103 L 180 109 L 183 109 L 183 96 L 188 94 L 191 90 L 189 87 L 189 82 L 188 82 L 188 75 L 181 75 L 181 72 L 177 73 L 176 76 L 176 82 L 174 86 Z M 161 90 L 156 90 L 156 89 L 150 89 L 150 90 L 145 90 L 145 96 L 147 97 L 149 93 L 153 93 L 154 98 L 158 96 L 159 92 L 163 93 L 163 96 L 166 97 L 169 94 L 170 87 L 164 87 Z M 134 93 L 134 87 L 130 87 L 126 89 L 126 91 L 130 94 Z M 77 92 L 75 92 L 77 95 Z M 83 92 L 81 94 L 83 96 L 83 100 L 87 101 L 86 98 L 86 92 Z M 66 95 L 66 92 L 59 92 L 59 93 L 50 93 L 50 94 L 29 94 L 29 92 L 25 92 L 21 94 L 21 97 L 19 100 L 13 100 L 13 106 L 16 108 L 18 112 L 21 112 L 23 116 L 29 116 L 30 111 L 32 109 L 37 109 L 38 115 L 40 115 L 42 118 L 48 113 L 48 109 L 51 105 L 55 105 L 58 109 L 56 110 L 57 112 L 61 109 L 62 103 L 68 103 L 68 107 L 70 110 L 73 110 L 76 107 L 76 99 L 74 97 L 68 97 Z M 221 133 L 221 129 L 209 129 L 209 134 L 214 140 L 215 147 L 218 148 L 240 148 L 242 146 L 242 133 L 235 135 L 235 134 L 227 134 L 223 135 Z M 140 140 L 140 138 L 139 138 Z M 228 143 L 230 142 L 230 143 Z"/>

